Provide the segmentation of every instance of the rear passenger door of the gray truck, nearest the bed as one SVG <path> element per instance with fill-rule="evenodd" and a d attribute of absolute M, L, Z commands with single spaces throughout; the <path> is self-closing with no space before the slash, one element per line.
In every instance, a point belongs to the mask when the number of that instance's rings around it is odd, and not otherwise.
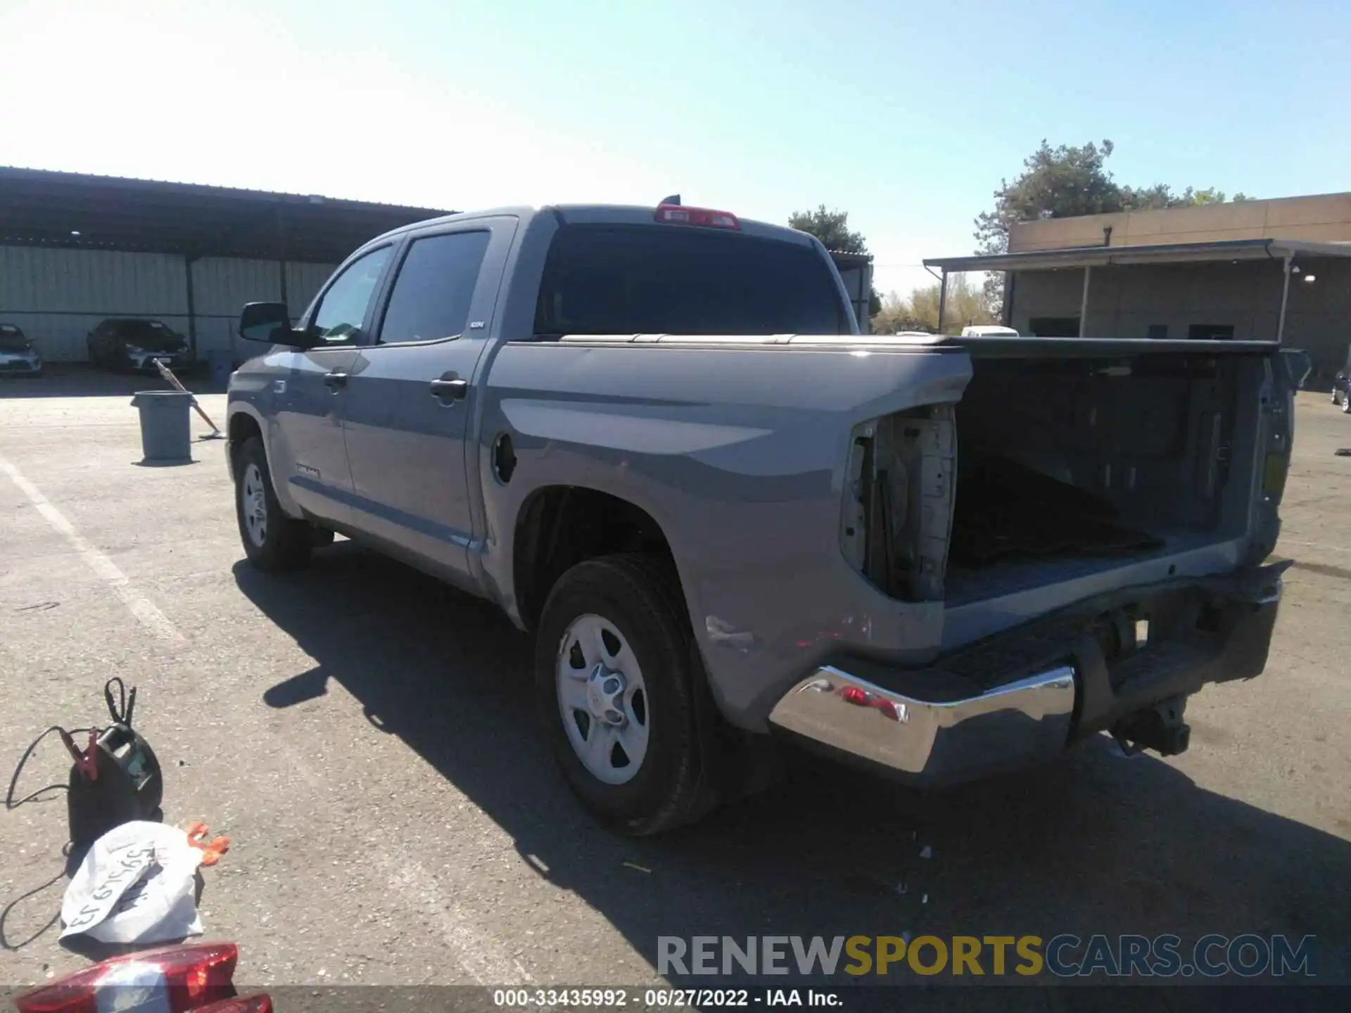
<path fill-rule="evenodd" d="M 516 219 L 413 235 L 343 407 L 354 523 L 462 582 L 469 573 L 466 439 Z"/>

